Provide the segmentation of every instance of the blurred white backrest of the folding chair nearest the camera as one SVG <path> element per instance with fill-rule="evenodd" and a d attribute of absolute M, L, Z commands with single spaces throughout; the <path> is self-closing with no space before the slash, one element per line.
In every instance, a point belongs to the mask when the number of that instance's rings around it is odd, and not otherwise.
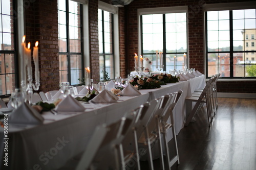
<path fill-rule="evenodd" d="M 90 142 L 87 145 L 87 149 L 83 152 L 82 157 L 76 167 L 77 170 L 88 169 L 90 167 L 108 131 L 110 131 L 110 128 L 104 125 L 96 128 Z"/>

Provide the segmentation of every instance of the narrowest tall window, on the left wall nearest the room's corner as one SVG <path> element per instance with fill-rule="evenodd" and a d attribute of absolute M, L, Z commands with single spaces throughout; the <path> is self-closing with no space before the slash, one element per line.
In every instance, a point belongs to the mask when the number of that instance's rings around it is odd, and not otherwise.
<path fill-rule="evenodd" d="M 100 79 L 103 78 L 103 71 L 108 72 L 111 79 L 114 79 L 114 22 L 113 14 L 98 9 L 98 35 L 99 35 L 99 71 Z"/>

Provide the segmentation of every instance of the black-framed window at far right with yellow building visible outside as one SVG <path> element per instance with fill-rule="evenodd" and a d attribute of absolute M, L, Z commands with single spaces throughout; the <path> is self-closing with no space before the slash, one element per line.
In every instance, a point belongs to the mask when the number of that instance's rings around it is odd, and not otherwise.
<path fill-rule="evenodd" d="M 247 70 L 256 63 L 245 57 L 256 52 L 255 40 L 248 39 L 256 33 L 255 13 L 255 9 L 205 12 L 207 78 L 218 73 L 229 79 L 255 78 Z"/>

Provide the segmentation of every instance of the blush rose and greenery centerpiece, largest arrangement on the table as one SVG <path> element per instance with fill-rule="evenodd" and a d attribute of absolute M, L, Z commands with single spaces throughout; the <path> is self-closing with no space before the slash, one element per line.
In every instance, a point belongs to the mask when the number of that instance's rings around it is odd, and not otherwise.
<path fill-rule="evenodd" d="M 133 86 L 138 85 L 138 89 L 154 89 L 161 87 L 160 82 L 158 80 L 154 80 L 152 77 L 144 79 L 135 77 L 133 80 L 130 80 L 130 83 Z"/>

